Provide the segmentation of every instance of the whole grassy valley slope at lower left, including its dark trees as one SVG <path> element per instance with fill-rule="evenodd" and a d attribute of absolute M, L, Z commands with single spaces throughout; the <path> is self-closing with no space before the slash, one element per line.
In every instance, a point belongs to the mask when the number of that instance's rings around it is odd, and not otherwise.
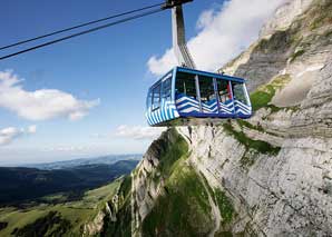
<path fill-rule="evenodd" d="M 39 205 L 27 209 L 0 209 L 0 236 L 81 236 L 85 226 L 96 219 L 105 204 L 116 194 L 121 180 L 87 191 L 82 200 L 58 205 Z"/>

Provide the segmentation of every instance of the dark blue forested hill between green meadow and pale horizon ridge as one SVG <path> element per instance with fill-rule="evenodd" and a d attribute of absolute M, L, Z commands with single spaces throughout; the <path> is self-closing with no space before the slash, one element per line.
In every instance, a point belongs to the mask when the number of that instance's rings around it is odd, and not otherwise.
<path fill-rule="evenodd" d="M 51 170 L 2 167 L 0 206 L 21 206 L 29 201 L 77 200 L 87 189 L 100 187 L 129 174 L 137 164 L 138 160 L 120 160 L 111 165 L 82 165 Z M 45 199 L 45 196 L 58 192 L 61 192 L 60 199 Z"/>

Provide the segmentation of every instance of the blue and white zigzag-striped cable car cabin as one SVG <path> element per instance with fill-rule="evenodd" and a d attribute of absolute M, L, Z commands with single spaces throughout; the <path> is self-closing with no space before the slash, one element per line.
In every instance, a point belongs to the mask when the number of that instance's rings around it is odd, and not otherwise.
<path fill-rule="evenodd" d="M 244 79 L 180 67 L 149 88 L 146 106 L 147 121 L 156 127 L 252 116 Z"/>

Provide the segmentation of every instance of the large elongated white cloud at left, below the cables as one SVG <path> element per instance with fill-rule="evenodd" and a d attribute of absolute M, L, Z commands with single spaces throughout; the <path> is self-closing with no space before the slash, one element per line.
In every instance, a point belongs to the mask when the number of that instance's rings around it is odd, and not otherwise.
<path fill-rule="evenodd" d="M 72 95 L 56 89 L 28 91 L 22 88 L 22 81 L 12 71 L 0 71 L 0 107 L 28 120 L 57 117 L 77 120 L 99 105 L 99 99 L 78 100 Z"/>

